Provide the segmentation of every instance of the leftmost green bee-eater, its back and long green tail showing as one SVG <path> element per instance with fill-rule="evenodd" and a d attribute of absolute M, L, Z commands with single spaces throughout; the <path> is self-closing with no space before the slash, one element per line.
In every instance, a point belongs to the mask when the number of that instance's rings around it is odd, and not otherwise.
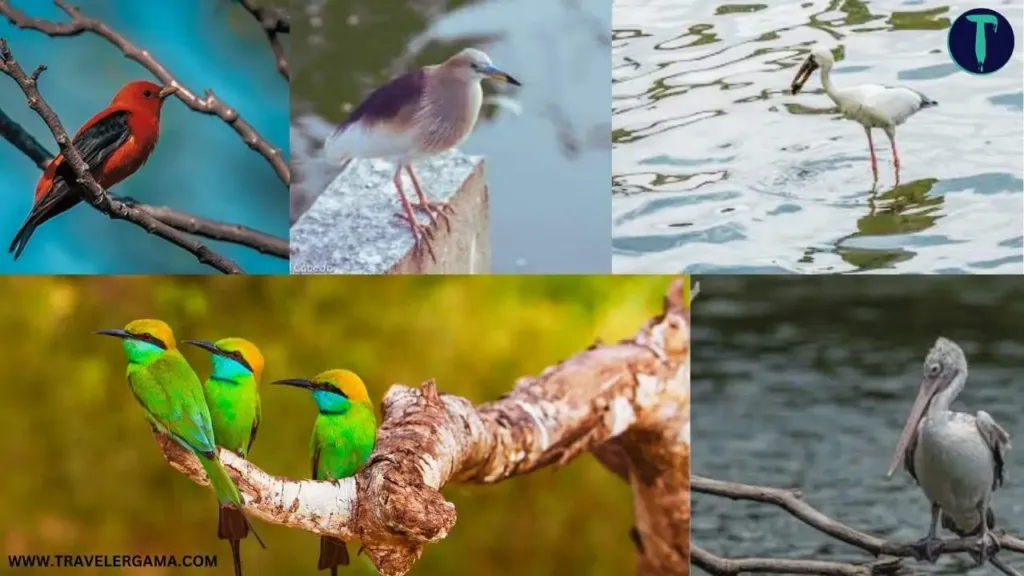
<path fill-rule="evenodd" d="M 146 419 L 199 458 L 222 506 L 242 510 L 242 494 L 217 456 L 203 385 L 178 352 L 170 326 L 160 320 L 134 320 L 124 330 L 96 333 L 121 338 L 128 355 L 128 387 Z M 242 518 L 251 530 L 248 519 Z M 259 534 L 253 534 L 263 545 Z"/>

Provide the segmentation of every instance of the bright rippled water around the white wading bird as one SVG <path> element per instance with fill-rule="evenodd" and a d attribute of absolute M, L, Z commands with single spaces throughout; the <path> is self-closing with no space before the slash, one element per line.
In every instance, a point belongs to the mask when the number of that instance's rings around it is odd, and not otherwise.
<path fill-rule="evenodd" d="M 984 77 L 945 47 L 979 5 L 615 0 L 615 272 L 1020 274 L 1024 1 L 984 4 L 1017 39 Z M 817 74 L 787 93 L 815 44 L 839 54 L 840 88 L 898 84 L 940 102 L 897 129 L 899 186 L 876 130 L 871 193 L 864 131 Z"/>

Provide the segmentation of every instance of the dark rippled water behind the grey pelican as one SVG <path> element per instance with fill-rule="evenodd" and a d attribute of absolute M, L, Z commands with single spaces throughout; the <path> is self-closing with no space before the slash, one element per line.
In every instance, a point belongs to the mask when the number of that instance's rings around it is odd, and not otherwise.
<path fill-rule="evenodd" d="M 923 537 L 923 494 L 904 471 L 890 481 L 885 472 L 925 355 L 941 334 L 963 346 L 970 364 L 954 409 L 988 411 L 1018 445 L 993 508 L 998 524 L 1024 533 L 1021 279 L 705 277 L 700 284 L 694 475 L 799 488 L 809 503 L 859 530 Z M 692 537 L 720 556 L 867 559 L 773 506 L 701 494 L 693 495 Z M 1024 569 L 1024 557 L 1004 557 Z M 963 574 L 969 562 L 943 558 L 913 568 Z"/>

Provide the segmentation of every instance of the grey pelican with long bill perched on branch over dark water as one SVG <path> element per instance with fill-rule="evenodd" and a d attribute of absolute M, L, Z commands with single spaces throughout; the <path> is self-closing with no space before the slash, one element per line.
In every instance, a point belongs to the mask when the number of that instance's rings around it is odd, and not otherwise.
<path fill-rule="evenodd" d="M 971 556 L 979 566 L 988 550 L 998 550 L 989 501 L 1007 479 L 1004 460 L 1010 435 L 985 412 L 952 412 L 949 405 L 964 389 L 967 359 L 952 340 L 939 337 L 925 359 L 924 377 L 903 426 L 887 478 L 901 462 L 932 503 L 928 536 L 916 542 L 921 556 L 938 560 L 941 540 L 936 525 L 962 538 L 978 536 Z M 994 560 L 994 559 L 993 559 Z"/>

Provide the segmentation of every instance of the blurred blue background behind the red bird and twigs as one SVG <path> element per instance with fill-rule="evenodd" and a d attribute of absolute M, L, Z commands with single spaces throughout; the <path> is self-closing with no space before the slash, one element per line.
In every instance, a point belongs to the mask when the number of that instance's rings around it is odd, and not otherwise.
<path fill-rule="evenodd" d="M 43 0 L 11 0 L 32 16 L 65 22 Z M 150 52 L 200 95 L 207 88 L 234 107 L 272 146 L 288 153 L 289 88 L 278 73 L 256 20 L 231 0 L 76 0 Z M 152 80 L 140 65 L 91 33 L 50 38 L 0 22 L 0 37 L 26 71 L 45 64 L 40 91 L 69 132 L 105 107 L 131 80 Z M 55 153 L 53 137 L 25 95 L 0 76 L 0 109 Z M 0 245 L 7 247 L 29 212 L 40 170 L 0 138 Z M 161 115 L 160 142 L 150 161 L 114 194 L 155 206 L 255 228 L 288 238 L 288 188 L 269 163 L 216 116 L 171 97 Z M 249 273 L 288 274 L 288 260 L 243 246 L 200 239 Z M 4 250 L 0 274 L 211 274 L 188 252 L 134 224 L 79 205 L 40 227 L 15 262 Z"/>

